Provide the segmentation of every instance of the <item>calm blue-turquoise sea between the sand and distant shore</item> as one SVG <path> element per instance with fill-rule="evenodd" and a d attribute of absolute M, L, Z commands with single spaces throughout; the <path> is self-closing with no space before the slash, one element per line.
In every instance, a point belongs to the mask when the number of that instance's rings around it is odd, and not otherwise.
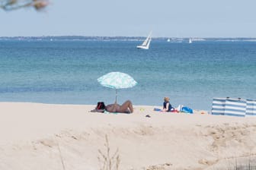
<path fill-rule="evenodd" d="M 256 99 L 256 42 L 142 38 L 0 39 L 0 102 L 96 105 L 113 103 L 116 91 L 98 77 L 130 74 L 137 85 L 117 90 L 117 102 L 212 109 L 213 98 Z"/>

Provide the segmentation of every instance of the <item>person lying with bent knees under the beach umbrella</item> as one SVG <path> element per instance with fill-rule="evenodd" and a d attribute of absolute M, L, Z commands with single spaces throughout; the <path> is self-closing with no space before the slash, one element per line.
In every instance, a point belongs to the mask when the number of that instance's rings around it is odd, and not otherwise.
<path fill-rule="evenodd" d="M 117 102 L 110 105 L 104 105 L 104 102 L 98 102 L 98 105 L 94 109 L 95 112 L 120 112 L 120 113 L 132 113 L 133 103 L 130 100 L 126 100 L 122 105 L 118 105 Z"/>

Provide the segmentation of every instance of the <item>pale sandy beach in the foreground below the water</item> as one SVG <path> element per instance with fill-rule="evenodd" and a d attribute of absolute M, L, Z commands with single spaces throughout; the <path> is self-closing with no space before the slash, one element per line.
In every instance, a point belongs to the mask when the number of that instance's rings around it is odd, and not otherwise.
<path fill-rule="evenodd" d="M 232 169 L 255 159 L 256 118 L 134 108 L 114 115 L 89 112 L 94 105 L 0 102 L 0 169 L 100 169 L 106 134 L 121 170 Z"/>

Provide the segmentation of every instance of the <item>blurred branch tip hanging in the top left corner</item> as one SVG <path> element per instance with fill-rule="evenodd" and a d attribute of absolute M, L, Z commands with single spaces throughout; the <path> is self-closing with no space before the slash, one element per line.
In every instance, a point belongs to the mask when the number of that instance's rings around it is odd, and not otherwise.
<path fill-rule="evenodd" d="M 20 8 L 35 8 L 37 11 L 49 5 L 48 0 L 0 0 L 0 8 L 12 11 Z"/>

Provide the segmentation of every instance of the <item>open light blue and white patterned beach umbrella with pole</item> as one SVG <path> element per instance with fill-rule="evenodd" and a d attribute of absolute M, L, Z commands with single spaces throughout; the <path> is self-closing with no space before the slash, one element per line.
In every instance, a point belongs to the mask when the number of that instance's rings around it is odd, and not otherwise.
<path fill-rule="evenodd" d="M 121 72 L 110 72 L 108 74 L 104 74 L 98 78 L 98 82 L 104 87 L 109 87 L 116 90 L 116 102 L 117 89 L 126 89 L 134 87 L 137 84 L 136 80 L 134 80 L 133 77 L 130 77 L 129 74 Z"/>

